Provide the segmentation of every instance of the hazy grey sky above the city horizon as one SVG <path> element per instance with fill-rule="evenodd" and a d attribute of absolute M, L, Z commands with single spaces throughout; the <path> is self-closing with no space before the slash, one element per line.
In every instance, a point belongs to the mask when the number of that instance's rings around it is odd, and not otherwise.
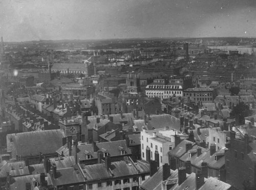
<path fill-rule="evenodd" d="M 0 0 L 5 41 L 256 37 L 256 0 Z"/>

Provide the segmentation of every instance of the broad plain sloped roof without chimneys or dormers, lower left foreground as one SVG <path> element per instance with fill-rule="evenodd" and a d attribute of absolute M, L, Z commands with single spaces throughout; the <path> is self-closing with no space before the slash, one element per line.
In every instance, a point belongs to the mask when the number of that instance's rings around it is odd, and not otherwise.
<path fill-rule="evenodd" d="M 7 150 L 22 156 L 53 153 L 62 146 L 63 137 L 60 129 L 7 134 Z"/>

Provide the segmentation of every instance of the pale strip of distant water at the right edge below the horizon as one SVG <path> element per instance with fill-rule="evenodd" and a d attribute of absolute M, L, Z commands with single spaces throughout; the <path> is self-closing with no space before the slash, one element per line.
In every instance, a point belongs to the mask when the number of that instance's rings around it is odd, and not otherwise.
<path fill-rule="evenodd" d="M 211 49 L 220 49 L 220 50 L 223 50 L 223 51 L 238 51 L 239 53 L 249 53 L 251 54 L 252 53 L 252 49 L 254 52 L 256 52 L 256 48 L 255 47 L 252 47 L 252 46 L 237 46 L 237 45 L 226 45 L 226 46 L 208 46 L 209 48 Z"/>

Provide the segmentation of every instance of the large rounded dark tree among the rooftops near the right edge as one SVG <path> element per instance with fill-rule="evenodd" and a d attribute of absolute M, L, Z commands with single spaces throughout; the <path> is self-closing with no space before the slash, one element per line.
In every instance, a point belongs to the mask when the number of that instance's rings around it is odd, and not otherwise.
<path fill-rule="evenodd" d="M 253 111 L 250 110 L 249 105 L 245 104 L 244 102 L 239 102 L 239 104 L 233 107 L 231 112 L 231 116 L 233 118 L 236 118 L 237 125 L 243 125 L 244 118 L 251 116 L 252 114 L 253 114 Z"/>

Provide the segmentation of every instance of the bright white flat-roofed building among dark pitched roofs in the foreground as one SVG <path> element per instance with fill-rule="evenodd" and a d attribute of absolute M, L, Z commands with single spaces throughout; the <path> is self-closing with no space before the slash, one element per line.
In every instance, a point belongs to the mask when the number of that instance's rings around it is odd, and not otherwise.
<path fill-rule="evenodd" d="M 168 164 L 168 152 L 175 147 L 175 135 L 176 137 L 187 138 L 187 134 L 175 129 L 143 129 L 140 132 L 142 159 L 147 161 L 150 159 L 157 160 L 157 154 L 155 154 L 157 151 L 159 154 L 159 167 L 166 163 Z M 148 152 L 148 157 L 146 149 L 150 151 L 150 153 Z"/>

